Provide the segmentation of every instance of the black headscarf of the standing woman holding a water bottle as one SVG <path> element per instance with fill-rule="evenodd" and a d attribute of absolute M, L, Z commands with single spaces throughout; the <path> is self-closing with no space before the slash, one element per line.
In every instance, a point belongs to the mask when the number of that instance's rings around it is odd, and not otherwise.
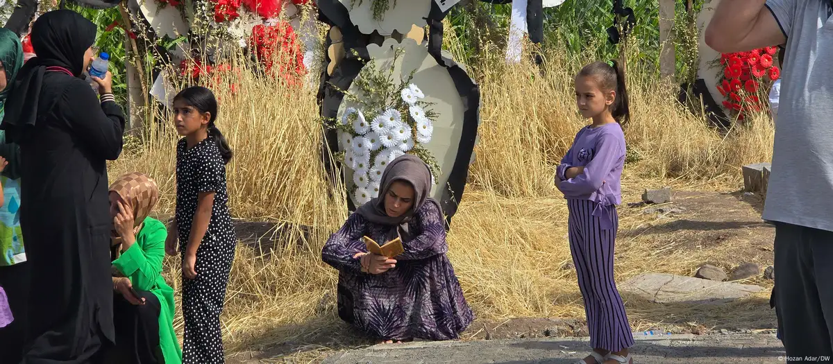
<path fill-rule="evenodd" d="M 96 30 L 95 24 L 72 10 L 47 12 L 37 18 L 30 33 L 37 57 L 17 72 L 14 93 L 6 101 L 6 116 L 0 125 L 7 130 L 7 139 L 19 140 L 24 126 L 35 125 L 38 110 L 49 110 L 57 102 L 54 98 L 39 100 L 47 67 L 62 67 L 72 76 L 81 76 L 84 53 L 96 41 Z"/>

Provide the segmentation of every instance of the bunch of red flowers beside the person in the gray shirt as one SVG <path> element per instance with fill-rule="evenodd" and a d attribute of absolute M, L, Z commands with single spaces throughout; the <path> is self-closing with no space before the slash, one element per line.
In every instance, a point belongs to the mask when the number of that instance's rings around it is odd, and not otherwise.
<path fill-rule="evenodd" d="M 721 54 L 723 77 L 717 91 L 726 98 L 723 106 L 736 112 L 738 120 L 743 120 L 750 111 L 765 110 L 766 101 L 763 100 L 766 97 L 760 95 L 761 84 L 771 83 L 781 76 L 781 70 L 773 65 L 772 57 L 777 52 L 777 47 L 766 47 Z"/>

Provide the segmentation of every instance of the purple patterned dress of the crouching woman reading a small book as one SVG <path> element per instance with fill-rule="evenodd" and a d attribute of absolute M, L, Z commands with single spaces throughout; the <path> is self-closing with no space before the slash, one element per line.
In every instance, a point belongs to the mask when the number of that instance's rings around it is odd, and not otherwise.
<path fill-rule="evenodd" d="M 474 319 L 454 268 L 446 257 L 445 222 L 436 204 L 423 204 L 409 224 L 415 238 L 403 243 L 397 267 L 382 274 L 362 273 L 356 253 L 367 252 L 362 236 L 386 241 L 396 226 L 372 224 L 352 214 L 322 250 L 324 262 L 338 269 L 338 316 L 385 340 L 448 340 Z"/>

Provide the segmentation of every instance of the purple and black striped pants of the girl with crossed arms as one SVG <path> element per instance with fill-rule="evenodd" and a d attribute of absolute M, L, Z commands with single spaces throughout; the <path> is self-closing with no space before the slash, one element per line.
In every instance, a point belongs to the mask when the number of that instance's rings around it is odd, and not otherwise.
<path fill-rule="evenodd" d="M 610 214 L 613 223 L 611 229 L 602 229 L 599 218 L 592 215 L 596 207 L 596 202 L 586 199 L 567 200 L 570 252 L 576 264 L 578 288 L 584 297 L 591 347 L 619 352 L 633 346 L 625 304 L 613 279 L 613 247 L 619 214 L 615 205 L 599 206 L 604 209 L 603 214 Z"/>

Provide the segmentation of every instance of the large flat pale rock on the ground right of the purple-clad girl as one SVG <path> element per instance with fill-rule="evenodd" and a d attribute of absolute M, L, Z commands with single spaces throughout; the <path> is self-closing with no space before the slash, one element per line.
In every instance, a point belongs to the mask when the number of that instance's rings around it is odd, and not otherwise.
<path fill-rule="evenodd" d="M 635 294 L 653 303 L 721 304 L 763 289 L 751 284 L 714 282 L 666 273 L 644 273 L 619 285 L 622 293 Z"/>

